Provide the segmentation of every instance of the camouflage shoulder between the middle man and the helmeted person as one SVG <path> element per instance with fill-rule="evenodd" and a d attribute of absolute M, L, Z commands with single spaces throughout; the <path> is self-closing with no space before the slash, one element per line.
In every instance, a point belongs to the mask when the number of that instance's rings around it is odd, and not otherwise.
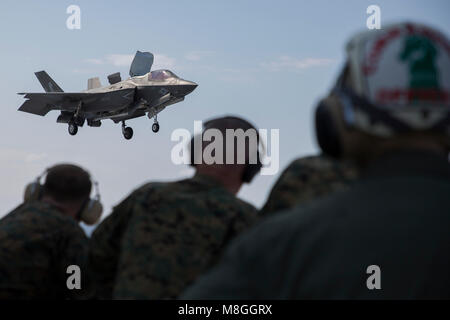
<path fill-rule="evenodd" d="M 356 169 L 325 155 L 299 158 L 275 183 L 261 215 L 290 209 L 299 204 L 344 190 L 356 178 Z"/>

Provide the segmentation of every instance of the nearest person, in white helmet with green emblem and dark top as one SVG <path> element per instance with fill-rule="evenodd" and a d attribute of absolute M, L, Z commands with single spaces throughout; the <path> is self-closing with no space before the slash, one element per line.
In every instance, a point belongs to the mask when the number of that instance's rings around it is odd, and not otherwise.
<path fill-rule="evenodd" d="M 429 46 L 435 59 L 422 61 Z M 405 49 L 430 67 L 409 68 Z M 361 177 L 237 239 L 183 298 L 450 298 L 450 42 L 404 23 L 357 35 L 347 51 L 316 132 Z"/>

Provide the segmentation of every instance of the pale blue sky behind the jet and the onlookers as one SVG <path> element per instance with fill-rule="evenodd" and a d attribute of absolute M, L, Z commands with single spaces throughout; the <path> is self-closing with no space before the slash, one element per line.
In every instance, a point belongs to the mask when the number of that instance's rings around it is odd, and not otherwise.
<path fill-rule="evenodd" d="M 81 8 L 81 29 L 66 28 L 66 8 Z M 174 129 L 222 114 L 280 129 L 280 172 L 290 161 L 317 152 L 312 115 L 343 59 L 344 45 L 366 28 L 366 8 L 381 8 L 381 24 L 417 21 L 450 34 L 449 1 L 2 1 L 0 4 L 2 126 L 0 216 L 20 203 L 23 187 L 45 167 L 65 161 L 99 180 L 106 214 L 148 180 L 191 174 L 170 161 Z M 46 70 L 65 91 L 86 89 L 87 79 L 120 71 L 136 50 L 156 54 L 167 67 L 199 87 L 151 121 L 80 128 L 69 136 L 57 112 L 41 118 L 17 111 L 17 92 L 41 92 L 34 72 Z M 260 176 L 240 196 L 261 206 L 276 176 Z"/>

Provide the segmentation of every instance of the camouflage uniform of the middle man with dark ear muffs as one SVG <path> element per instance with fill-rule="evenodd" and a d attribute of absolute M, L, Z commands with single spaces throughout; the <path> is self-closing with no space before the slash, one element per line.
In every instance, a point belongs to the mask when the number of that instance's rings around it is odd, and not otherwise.
<path fill-rule="evenodd" d="M 149 183 L 114 208 L 91 239 L 100 298 L 176 298 L 220 257 L 256 209 L 209 177 Z"/>

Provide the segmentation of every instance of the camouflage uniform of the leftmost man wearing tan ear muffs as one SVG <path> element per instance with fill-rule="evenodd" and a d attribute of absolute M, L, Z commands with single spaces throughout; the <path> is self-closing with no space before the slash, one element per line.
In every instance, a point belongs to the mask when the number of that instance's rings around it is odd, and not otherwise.
<path fill-rule="evenodd" d="M 0 220 L 0 299 L 87 297 L 88 239 L 71 217 L 39 201 Z M 67 288 L 69 265 L 81 269 L 81 290 Z"/>

